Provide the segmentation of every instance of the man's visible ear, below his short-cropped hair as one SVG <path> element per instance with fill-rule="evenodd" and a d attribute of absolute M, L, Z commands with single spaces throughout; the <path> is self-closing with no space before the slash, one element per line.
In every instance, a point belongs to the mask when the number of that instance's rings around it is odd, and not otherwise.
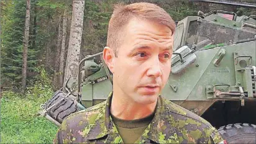
<path fill-rule="evenodd" d="M 107 67 L 109 67 L 109 70 L 113 74 L 114 74 L 114 58 L 115 58 L 114 50 L 109 47 L 104 47 L 103 59 L 107 65 Z"/>

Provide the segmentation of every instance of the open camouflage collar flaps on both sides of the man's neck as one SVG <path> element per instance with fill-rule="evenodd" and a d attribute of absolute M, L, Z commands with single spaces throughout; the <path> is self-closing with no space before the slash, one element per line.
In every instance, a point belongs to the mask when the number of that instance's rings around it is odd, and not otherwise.
<path fill-rule="evenodd" d="M 99 108 L 99 114 L 94 123 L 89 124 L 85 128 L 83 134 L 87 140 L 107 137 L 112 132 L 114 124 L 110 116 L 111 100 L 112 92 L 109 94 L 107 101 Z M 149 140 L 155 143 L 178 143 L 178 136 L 173 125 L 174 121 L 171 117 L 171 110 L 166 102 L 167 100 L 163 99 L 162 96 L 158 97 L 155 117 L 153 117 L 149 127 L 146 128 L 142 135 L 146 135 Z"/>

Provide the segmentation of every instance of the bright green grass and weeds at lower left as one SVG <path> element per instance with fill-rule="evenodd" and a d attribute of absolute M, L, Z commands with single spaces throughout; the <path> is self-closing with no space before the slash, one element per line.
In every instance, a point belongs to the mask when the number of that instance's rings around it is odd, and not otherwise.
<path fill-rule="evenodd" d="M 1 99 L 1 143 L 52 143 L 58 127 L 44 117 L 35 116 L 40 104 L 51 96 L 52 92 L 47 89 L 38 95 L 32 89 L 25 96 L 4 92 Z"/>

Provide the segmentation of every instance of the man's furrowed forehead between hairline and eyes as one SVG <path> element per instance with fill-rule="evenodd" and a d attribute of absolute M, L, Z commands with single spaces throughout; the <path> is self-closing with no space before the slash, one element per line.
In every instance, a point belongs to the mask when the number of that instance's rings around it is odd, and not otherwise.
<path fill-rule="evenodd" d="M 173 35 L 171 29 L 166 25 L 153 20 L 134 18 L 130 19 L 129 24 L 124 28 L 121 31 L 122 37 L 120 37 L 122 38 L 121 47 L 118 49 L 125 47 L 125 51 L 131 52 L 131 50 L 135 50 L 135 47 L 153 48 L 153 41 L 160 43 L 156 47 L 161 50 L 173 48 Z"/>

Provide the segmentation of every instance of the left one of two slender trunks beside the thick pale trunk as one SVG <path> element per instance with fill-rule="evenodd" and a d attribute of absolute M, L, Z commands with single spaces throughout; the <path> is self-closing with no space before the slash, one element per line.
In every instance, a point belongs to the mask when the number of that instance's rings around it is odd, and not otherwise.
<path fill-rule="evenodd" d="M 53 84 L 56 89 L 58 89 L 58 70 L 59 70 L 59 62 L 60 62 L 60 42 L 62 41 L 62 17 L 58 22 L 58 40 L 56 47 L 56 57 L 55 57 L 55 65 L 54 65 L 54 76 L 53 76 Z"/>

